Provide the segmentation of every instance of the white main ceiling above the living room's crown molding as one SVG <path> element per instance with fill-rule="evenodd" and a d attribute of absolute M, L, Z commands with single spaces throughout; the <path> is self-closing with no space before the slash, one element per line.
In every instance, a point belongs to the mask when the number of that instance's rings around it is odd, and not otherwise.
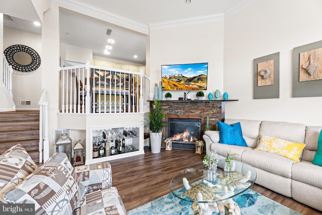
<path fill-rule="evenodd" d="M 219 13 L 244 5 L 249 0 L 78 0 L 143 24 L 186 19 Z"/>

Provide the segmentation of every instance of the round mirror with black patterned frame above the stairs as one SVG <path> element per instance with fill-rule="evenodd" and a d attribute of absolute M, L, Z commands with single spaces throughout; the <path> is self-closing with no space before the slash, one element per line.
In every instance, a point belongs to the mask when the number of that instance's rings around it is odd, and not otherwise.
<path fill-rule="evenodd" d="M 40 66 L 40 56 L 32 48 L 26 45 L 12 45 L 4 52 L 9 65 L 17 71 L 28 73 Z"/>

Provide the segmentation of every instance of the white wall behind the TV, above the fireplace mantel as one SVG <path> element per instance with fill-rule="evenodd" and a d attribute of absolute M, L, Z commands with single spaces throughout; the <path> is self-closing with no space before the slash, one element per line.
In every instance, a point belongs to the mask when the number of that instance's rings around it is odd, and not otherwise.
<path fill-rule="evenodd" d="M 150 91 L 161 81 L 161 65 L 208 62 L 208 84 L 205 98 L 216 89 L 223 91 L 223 19 L 174 27 L 152 28 L 149 36 Z M 163 96 L 169 91 L 164 91 Z M 172 100 L 184 91 L 171 91 Z M 197 91 L 188 96 L 196 99 Z M 164 97 L 165 99 L 165 97 Z"/>

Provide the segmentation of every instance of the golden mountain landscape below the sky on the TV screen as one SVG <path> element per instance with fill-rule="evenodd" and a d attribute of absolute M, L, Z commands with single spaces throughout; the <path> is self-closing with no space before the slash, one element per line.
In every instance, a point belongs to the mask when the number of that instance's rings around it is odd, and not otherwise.
<path fill-rule="evenodd" d="M 185 77 L 182 74 L 162 77 L 163 90 L 206 90 L 207 76 Z"/>

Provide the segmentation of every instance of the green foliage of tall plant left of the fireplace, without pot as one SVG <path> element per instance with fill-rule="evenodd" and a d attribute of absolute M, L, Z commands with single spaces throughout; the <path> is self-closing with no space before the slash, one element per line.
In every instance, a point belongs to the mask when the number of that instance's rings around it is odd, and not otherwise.
<path fill-rule="evenodd" d="M 148 122 L 151 132 L 160 132 L 164 128 L 165 122 L 163 119 L 165 116 L 161 101 L 154 100 L 154 109 L 150 109 L 150 112 L 148 113 Z"/>

